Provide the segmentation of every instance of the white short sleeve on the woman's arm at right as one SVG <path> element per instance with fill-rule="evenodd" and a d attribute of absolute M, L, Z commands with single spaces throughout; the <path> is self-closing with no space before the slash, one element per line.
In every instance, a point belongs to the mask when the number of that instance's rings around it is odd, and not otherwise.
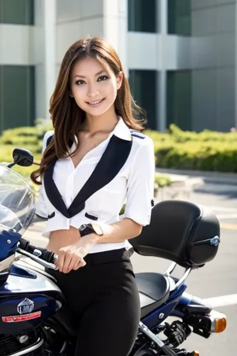
<path fill-rule="evenodd" d="M 150 222 L 154 195 L 154 145 L 149 137 L 138 147 L 127 181 L 124 218 L 145 226 Z"/>

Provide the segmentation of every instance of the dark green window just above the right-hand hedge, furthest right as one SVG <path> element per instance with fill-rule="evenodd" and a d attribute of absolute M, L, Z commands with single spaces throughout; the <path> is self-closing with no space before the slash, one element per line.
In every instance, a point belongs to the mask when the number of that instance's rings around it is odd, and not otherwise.
<path fill-rule="evenodd" d="M 167 127 L 191 130 L 191 71 L 166 72 Z"/>

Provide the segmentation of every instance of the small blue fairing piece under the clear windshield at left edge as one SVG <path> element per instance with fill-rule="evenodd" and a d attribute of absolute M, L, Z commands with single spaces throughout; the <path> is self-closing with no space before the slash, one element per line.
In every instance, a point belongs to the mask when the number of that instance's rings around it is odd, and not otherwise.
<path fill-rule="evenodd" d="M 0 231 L 0 261 L 14 254 L 21 235 L 13 231 Z"/>

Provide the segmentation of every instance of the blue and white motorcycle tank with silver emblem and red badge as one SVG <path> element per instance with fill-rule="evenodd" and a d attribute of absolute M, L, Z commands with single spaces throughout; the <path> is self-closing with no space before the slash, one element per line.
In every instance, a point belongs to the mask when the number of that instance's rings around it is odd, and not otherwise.
<path fill-rule="evenodd" d="M 11 267 L 7 281 L 0 286 L 0 334 L 33 330 L 51 317 L 64 301 L 52 280 L 27 269 Z"/>

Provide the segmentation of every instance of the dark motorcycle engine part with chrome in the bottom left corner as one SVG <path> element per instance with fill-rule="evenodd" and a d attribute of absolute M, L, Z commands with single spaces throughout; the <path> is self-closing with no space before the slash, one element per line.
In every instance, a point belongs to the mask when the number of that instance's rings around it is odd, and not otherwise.
<path fill-rule="evenodd" d="M 43 338 L 34 330 L 27 334 L 0 335 L 0 356 L 42 356 Z"/>

